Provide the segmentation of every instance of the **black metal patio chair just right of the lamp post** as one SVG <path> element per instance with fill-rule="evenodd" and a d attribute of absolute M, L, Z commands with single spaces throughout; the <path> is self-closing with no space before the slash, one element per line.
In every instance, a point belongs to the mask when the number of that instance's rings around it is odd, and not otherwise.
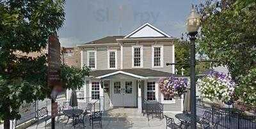
<path fill-rule="evenodd" d="M 209 128 L 212 118 L 212 112 L 205 110 L 203 117 L 200 118 L 197 123 L 200 124 L 201 128 Z"/>

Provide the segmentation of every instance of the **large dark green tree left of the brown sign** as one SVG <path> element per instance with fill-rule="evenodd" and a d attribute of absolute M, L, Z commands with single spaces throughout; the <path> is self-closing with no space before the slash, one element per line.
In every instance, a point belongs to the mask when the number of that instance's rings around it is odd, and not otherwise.
<path fill-rule="evenodd" d="M 21 56 L 18 52 L 40 52 L 47 38 L 65 20 L 63 0 L 0 2 L 0 119 L 10 128 L 19 119 L 22 103 L 47 96 L 47 59 Z"/>

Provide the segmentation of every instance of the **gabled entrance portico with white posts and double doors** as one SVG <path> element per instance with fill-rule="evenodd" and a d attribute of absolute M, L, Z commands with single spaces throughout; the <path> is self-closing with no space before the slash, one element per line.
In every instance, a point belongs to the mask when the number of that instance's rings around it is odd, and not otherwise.
<path fill-rule="evenodd" d="M 127 72 L 114 72 L 109 75 L 96 77 L 108 89 L 111 107 L 138 107 L 141 109 L 141 79 L 146 77 Z M 140 100 L 139 100 L 140 98 Z M 140 112 L 140 110 L 139 110 Z"/>

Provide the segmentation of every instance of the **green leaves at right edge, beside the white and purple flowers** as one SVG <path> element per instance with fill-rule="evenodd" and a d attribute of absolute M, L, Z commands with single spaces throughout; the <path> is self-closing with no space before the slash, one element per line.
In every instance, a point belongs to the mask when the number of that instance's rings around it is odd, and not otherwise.
<path fill-rule="evenodd" d="M 256 67 L 241 77 L 241 84 L 235 89 L 237 99 L 256 106 Z"/>

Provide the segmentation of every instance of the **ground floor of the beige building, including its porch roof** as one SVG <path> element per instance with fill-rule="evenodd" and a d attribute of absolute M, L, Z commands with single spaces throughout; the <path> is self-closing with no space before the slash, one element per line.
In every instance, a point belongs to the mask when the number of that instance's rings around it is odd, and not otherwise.
<path fill-rule="evenodd" d="M 166 100 L 159 91 L 158 80 L 171 73 L 151 69 L 96 70 L 86 78 L 78 93 L 79 102 L 97 102 L 100 110 L 116 107 L 143 109 L 143 100 L 164 103 L 166 111 L 179 111 L 181 100 Z M 67 99 L 70 97 L 67 92 Z"/>

